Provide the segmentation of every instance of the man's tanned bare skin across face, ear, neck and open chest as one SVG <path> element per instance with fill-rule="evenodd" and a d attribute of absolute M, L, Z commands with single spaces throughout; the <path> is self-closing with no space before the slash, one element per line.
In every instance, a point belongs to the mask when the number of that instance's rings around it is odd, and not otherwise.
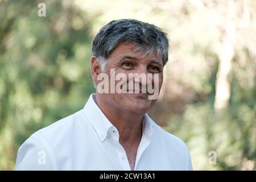
<path fill-rule="evenodd" d="M 125 73 L 159 73 L 159 92 L 163 83 L 163 61 L 152 52 L 134 51 L 135 44 L 121 43 L 114 49 L 107 60 L 104 73 L 110 77 L 110 69 L 115 69 L 115 75 Z M 97 57 L 91 58 L 91 75 L 93 81 L 100 82 L 97 76 L 102 73 Z M 135 83 L 134 78 L 132 80 Z M 154 78 L 151 80 L 154 85 Z M 115 82 L 115 84 L 118 81 Z M 139 80 L 141 86 L 147 83 Z M 97 90 L 97 89 L 96 89 Z M 117 128 L 119 143 L 126 151 L 131 170 L 134 170 L 137 149 L 142 137 L 142 121 L 144 114 L 155 104 L 156 100 L 148 100 L 147 93 L 98 93 L 96 91 L 96 104 Z"/>

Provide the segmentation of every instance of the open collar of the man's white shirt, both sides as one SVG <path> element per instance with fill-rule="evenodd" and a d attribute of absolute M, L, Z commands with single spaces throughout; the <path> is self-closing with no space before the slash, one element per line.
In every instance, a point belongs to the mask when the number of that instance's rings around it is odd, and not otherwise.
<path fill-rule="evenodd" d="M 92 124 L 94 130 L 96 131 L 101 142 L 104 142 L 105 138 L 108 136 L 110 128 L 117 131 L 115 126 L 109 121 L 104 113 L 102 113 L 100 107 L 95 102 L 96 94 L 90 95 L 88 101 L 86 102 L 83 112 L 86 117 L 88 117 L 90 123 Z M 142 132 L 148 139 L 152 135 L 152 130 L 154 127 L 154 121 L 146 113 L 143 118 Z"/>

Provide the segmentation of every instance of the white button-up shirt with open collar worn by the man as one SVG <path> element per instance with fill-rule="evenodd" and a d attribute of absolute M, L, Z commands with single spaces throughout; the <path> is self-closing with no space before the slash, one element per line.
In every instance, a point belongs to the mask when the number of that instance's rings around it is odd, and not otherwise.
<path fill-rule="evenodd" d="M 130 170 L 118 130 L 92 94 L 84 109 L 32 134 L 20 146 L 17 170 Z M 184 142 L 144 115 L 135 170 L 192 170 Z"/>

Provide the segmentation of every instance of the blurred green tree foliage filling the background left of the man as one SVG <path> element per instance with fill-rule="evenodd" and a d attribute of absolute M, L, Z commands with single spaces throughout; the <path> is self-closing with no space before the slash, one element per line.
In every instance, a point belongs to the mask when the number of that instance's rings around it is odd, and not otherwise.
<path fill-rule="evenodd" d="M 68 1 L 1 1 L 0 169 L 36 130 L 81 109 L 90 77 L 91 22 Z"/>

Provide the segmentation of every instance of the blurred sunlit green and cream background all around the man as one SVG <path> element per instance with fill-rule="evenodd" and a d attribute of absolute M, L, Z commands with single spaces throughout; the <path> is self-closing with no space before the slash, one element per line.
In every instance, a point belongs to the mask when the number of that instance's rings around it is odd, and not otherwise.
<path fill-rule="evenodd" d="M 256 0 L 0 0 L 0 169 L 14 169 L 32 133 L 82 109 L 95 92 L 92 40 L 121 18 L 169 35 L 150 116 L 184 140 L 193 168 L 255 170 Z"/>

